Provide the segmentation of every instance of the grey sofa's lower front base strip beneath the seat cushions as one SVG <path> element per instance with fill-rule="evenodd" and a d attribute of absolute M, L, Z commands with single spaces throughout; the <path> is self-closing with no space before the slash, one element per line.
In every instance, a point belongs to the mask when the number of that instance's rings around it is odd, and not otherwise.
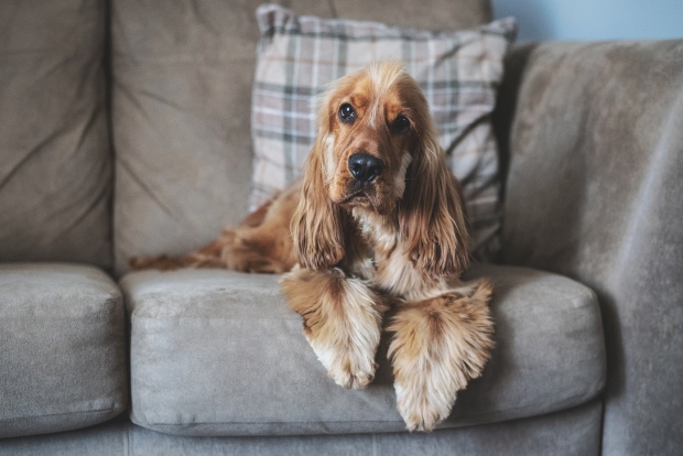
<path fill-rule="evenodd" d="M 600 402 L 532 419 L 431 434 L 186 437 L 115 420 L 57 435 L 0 441 L 0 456 L 597 456 Z"/>

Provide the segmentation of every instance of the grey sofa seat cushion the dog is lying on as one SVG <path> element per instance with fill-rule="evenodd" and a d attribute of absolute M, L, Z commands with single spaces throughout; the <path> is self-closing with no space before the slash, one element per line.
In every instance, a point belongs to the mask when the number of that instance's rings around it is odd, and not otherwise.
<path fill-rule="evenodd" d="M 605 383 L 595 294 L 560 275 L 478 267 L 495 284 L 497 347 L 442 427 L 582 404 Z M 142 271 L 121 286 L 131 323 L 131 419 L 170 434 L 397 432 L 388 336 L 365 390 L 344 390 L 308 347 L 277 275 Z"/>

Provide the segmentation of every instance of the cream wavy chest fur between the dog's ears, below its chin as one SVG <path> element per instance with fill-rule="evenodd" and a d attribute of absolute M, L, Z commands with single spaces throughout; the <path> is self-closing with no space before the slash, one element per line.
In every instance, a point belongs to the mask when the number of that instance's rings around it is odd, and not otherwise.
<path fill-rule="evenodd" d="M 366 210 L 353 210 L 358 230 L 366 243 L 366 252 L 355 268 L 355 273 L 372 282 L 382 292 L 410 301 L 430 297 L 441 289 L 441 279 L 425 276 L 410 261 L 405 245 L 401 242 L 398 218 Z"/>

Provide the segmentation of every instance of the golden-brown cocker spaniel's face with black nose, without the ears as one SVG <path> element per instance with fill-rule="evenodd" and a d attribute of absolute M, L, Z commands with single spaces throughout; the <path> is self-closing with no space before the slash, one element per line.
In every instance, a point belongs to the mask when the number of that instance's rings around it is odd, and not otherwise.
<path fill-rule="evenodd" d="M 321 107 L 328 196 L 346 208 L 387 214 L 405 191 L 405 174 L 425 109 L 400 65 L 343 78 Z"/>

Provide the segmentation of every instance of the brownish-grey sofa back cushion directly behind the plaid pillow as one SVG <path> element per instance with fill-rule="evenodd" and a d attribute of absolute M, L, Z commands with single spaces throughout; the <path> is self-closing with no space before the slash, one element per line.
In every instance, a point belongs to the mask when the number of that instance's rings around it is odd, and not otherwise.
<path fill-rule="evenodd" d="M 198 248 L 247 214 L 260 3 L 112 0 L 119 273 L 135 254 Z M 387 12 L 379 0 L 284 3 L 321 17 L 348 14 L 442 30 L 490 20 L 485 0 L 425 0 L 423 8 L 410 7 L 410 15 Z"/>

